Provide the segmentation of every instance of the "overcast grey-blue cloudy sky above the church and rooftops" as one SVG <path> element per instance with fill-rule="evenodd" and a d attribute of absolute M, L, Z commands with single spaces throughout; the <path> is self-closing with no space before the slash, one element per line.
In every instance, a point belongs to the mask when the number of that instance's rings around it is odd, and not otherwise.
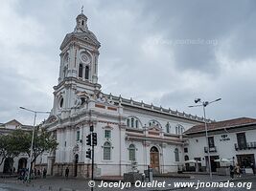
<path fill-rule="evenodd" d="M 102 44 L 103 92 L 217 120 L 256 117 L 256 2 L 251 0 L 1 0 L 0 122 L 50 111 L 59 46 L 76 16 Z M 47 117 L 40 115 L 37 122 Z"/>

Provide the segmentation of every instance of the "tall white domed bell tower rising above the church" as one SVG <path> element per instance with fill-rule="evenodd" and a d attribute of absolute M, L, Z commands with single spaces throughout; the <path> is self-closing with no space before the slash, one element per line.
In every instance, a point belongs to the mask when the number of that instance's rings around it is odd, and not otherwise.
<path fill-rule="evenodd" d="M 67 33 L 60 45 L 58 85 L 54 87 L 54 115 L 68 117 L 72 109 L 74 111 L 78 103 L 81 103 L 79 95 L 90 97 L 100 92 L 100 47 L 101 43 L 95 34 L 88 30 L 87 17 L 81 11 L 76 18 L 74 31 Z"/>

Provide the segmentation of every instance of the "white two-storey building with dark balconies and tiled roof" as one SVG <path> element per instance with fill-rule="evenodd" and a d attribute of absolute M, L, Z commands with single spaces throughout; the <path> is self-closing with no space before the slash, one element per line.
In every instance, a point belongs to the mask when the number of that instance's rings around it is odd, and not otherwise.
<path fill-rule="evenodd" d="M 256 119 L 241 117 L 207 124 L 208 144 L 211 169 L 217 171 L 228 162 L 218 162 L 216 159 L 230 160 L 230 164 L 238 163 L 247 172 L 251 171 L 251 163 L 255 165 L 256 155 Z M 208 169 L 207 143 L 204 124 L 195 125 L 184 133 L 187 146 L 184 147 L 184 159 L 200 161 L 201 170 Z"/>

